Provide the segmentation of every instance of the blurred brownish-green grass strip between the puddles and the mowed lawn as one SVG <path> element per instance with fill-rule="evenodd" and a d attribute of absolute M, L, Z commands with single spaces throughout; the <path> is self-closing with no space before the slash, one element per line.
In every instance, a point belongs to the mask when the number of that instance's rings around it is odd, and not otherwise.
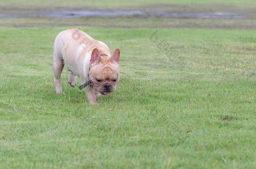
<path fill-rule="evenodd" d="M 106 22 L 107 20 L 107 22 Z M 101 28 L 210 28 L 256 29 L 254 19 L 173 19 L 173 18 L 102 18 L 76 19 L 16 18 L 0 19 L 0 27 L 101 27 Z"/>

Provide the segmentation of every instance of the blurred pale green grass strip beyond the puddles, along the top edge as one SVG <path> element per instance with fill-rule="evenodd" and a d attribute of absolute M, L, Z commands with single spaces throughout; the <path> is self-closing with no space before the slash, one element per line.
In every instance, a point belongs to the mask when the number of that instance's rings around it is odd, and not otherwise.
<path fill-rule="evenodd" d="M 256 5 L 255 0 L 1 0 L 2 7 L 15 8 L 131 8 L 140 5 L 180 4 L 180 5 Z"/>

